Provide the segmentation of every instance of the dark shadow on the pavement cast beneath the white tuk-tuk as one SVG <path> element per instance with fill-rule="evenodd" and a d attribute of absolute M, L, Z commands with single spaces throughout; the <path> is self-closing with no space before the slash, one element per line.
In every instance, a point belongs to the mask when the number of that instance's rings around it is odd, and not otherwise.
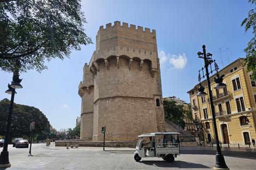
<path fill-rule="evenodd" d="M 157 166 L 157 167 L 177 167 L 177 168 L 209 168 L 212 169 L 212 167 L 209 166 L 205 166 L 202 164 L 195 164 L 195 163 L 189 163 L 189 162 L 183 162 L 180 160 L 174 160 L 173 163 L 168 163 L 163 161 L 155 161 L 155 160 L 143 160 L 141 162 L 139 162 L 140 164 L 146 164 L 146 165 L 150 165 L 150 166 Z"/>

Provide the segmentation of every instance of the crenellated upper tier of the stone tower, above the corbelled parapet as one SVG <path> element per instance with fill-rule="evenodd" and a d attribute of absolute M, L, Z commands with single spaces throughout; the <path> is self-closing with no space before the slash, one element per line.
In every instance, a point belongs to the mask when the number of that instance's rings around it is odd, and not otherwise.
<path fill-rule="evenodd" d="M 118 40 L 117 40 L 118 39 Z M 138 48 L 148 50 L 150 52 L 157 52 L 156 45 L 156 31 L 150 32 L 149 28 L 124 23 L 121 25 L 120 21 L 115 21 L 103 25 L 99 28 L 96 36 L 96 50 L 103 50 L 108 47 L 124 46 L 129 48 Z"/>

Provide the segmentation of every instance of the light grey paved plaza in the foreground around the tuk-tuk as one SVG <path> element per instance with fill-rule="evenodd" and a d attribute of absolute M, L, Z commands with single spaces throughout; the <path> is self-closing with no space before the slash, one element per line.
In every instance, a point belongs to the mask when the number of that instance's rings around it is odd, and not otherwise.
<path fill-rule="evenodd" d="M 1 148 L 2 149 L 2 148 Z M 134 148 L 55 147 L 45 143 L 33 144 L 31 155 L 28 148 L 9 145 L 11 167 L 7 170 L 35 169 L 213 169 L 215 147 L 181 147 L 181 155 L 174 163 L 162 158 L 142 158 L 135 162 Z M 2 150 L 1 150 L 2 151 Z M 256 149 L 222 145 L 222 154 L 230 169 L 256 169 Z"/>

